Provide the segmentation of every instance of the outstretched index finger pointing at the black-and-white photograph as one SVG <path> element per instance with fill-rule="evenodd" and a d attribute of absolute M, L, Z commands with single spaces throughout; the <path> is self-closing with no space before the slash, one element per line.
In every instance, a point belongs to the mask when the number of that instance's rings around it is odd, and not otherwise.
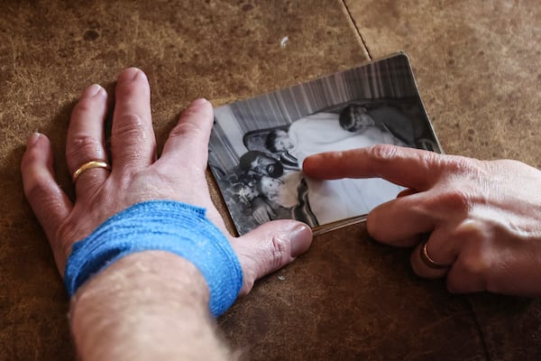
<path fill-rule="evenodd" d="M 307 157 L 303 171 L 326 180 L 383 178 L 414 190 L 427 190 L 439 178 L 443 155 L 390 144 Z"/>

